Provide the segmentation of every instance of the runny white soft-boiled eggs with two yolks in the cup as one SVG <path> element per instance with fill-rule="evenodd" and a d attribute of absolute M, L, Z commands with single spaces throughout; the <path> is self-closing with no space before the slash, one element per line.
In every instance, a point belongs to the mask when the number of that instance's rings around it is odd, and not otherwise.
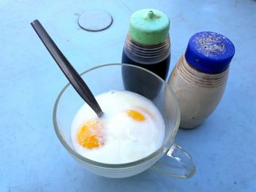
<path fill-rule="evenodd" d="M 108 164 L 136 161 L 154 153 L 165 137 L 157 107 L 138 93 L 110 91 L 96 96 L 102 118 L 88 104 L 72 122 L 72 144 L 80 155 Z"/>

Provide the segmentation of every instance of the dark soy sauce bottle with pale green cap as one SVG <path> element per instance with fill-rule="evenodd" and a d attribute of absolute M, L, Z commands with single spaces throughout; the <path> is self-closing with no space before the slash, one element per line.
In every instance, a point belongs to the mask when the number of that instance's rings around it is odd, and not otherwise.
<path fill-rule="evenodd" d="M 124 44 L 121 63 L 140 66 L 166 79 L 170 66 L 170 20 L 165 13 L 156 9 L 141 9 L 132 14 L 129 20 L 129 32 Z M 143 93 L 140 87 L 145 83 L 152 83 L 145 73 L 141 76 L 136 70 L 124 70 L 124 87 L 129 91 Z M 128 70 L 129 69 L 129 70 Z M 134 85 L 137 83 L 137 85 Z M 138 86 L 138 83 L 141 86 Z M 151 85 L 158 88 L 159 84 Z"/>

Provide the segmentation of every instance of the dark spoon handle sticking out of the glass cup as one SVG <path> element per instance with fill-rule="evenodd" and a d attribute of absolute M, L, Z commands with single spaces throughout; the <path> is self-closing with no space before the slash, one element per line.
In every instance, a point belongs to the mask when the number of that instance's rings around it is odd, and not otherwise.
<path fill-rule="evenodd" d="M 61 71 L 65 74 L 70 84 L 75 88 L 75 91 L 82 97 L 84 101 L 91 107 L 92 110 L 100 117 L 103 112 L 99 107 L 94 95 L 91 93 L 91 90 L 86 85 L 86 82 L 83 81 L 82 77 L 78 74 L 77 71 L 73 68 L 73 66 L 67 61 L 67 58 L 61 53 L 61 50 L 57 47 L 57 45 L 53 42 L 53 39 L 50 38 L 48 33 L 43 28 L 42 24 L 39 20 L 34 20 L 31 23 L 31 26 L 36 31 L 38 37 L 41 39 L 45 47 L 48 49 L 50 55 L 52 55 L 53 59 L 61 68 Z"/>

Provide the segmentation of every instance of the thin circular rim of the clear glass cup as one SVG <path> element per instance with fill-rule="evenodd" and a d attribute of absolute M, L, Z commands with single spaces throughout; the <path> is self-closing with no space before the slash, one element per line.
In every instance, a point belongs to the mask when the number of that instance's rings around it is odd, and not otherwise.
<path fill-rule="evenodd" d="M 173 94 L 174 99 L 176 100 L 176 109 L 177 109 L 177 112 L 179 114 L 178 118 L 176 120 L 176 124 L 175 124 L 175 126 L 173 128 L 173 134 L 171 134 L 170 137 L 167 139 L 167 141 L 173 142 L 174 137 L 176 136 L 176 133 L 178 131 L 178 126 L 180 124 L 181 111 L 180 111 L 180 107 L 178 105 L 178 100 L 176 98 L 176 95 L 171 90 L 171 88 L 169 87 L 167 82 L 165 82 L 165 80 L 162 80 L 161 77 L 159 77 L 157 74 L 154 74 L 153 72 L 149 71 L 148 69 L 144 69 L 143 67 L 135 66 L 135 65 L 131 65 L 131 64 L 102 64 L 102 65 L 99 65 L 99 66 L 94 66 L 91 69 L 86 70 L 85 72 L 82 72 L 80 74 L 80 76 L 83 76 L 84 74 L 87 74 L 87 73 L 89 73 L 89 72 L 91 72 L 91 71 L 93 71 L 95 69 L 99 69 L 99 68 L 102 68 L 102 67 L 105 67 L 105 66 L 131 66 L 131 67 L 134 67 L 134 68 L 142 69 L 142 70 L 144 70 L 144 71 L 154 75 L 155 77 L 157 77 L 157 79 L 159 79 L 162 82 L 162 84 L 165 85 L 165 88 L 169 89 L 169 91 Z M 66 150 L 68 150 L 69 153 L 74 155 L 76 158 L 80 159 L 81 161 L 83 161 L 83 162 L 85 162 L 87 164 L 91 164 L 93 166 L 100 166 L 100 167 L 105 167 L 105 168 L 126 168 L 126 167 L 129 167 L 129 166 L 135 166 L 135 165 L 141 164 L 141 163 L 143 163 L 145 161 L 148 161 L 149 159 L 154 158 L 155 156 L 159 155 L 159 153 L 162 153 L 162 151 L 169 150 L 170 147 L 167 147 L 166 146 L 166 142 L 165 142 L 165 143 L 162 144 L 161 147 L 159 147 L 158 150 L 154 151 L 154 153 L 151 153 L 151 154 L 147 155 L 146 157 L 140 158 L 140 159 L 138 159 L 136 161 L 131 161 L 131 162 L 124 163 L 124 164 L 105 164 L 105 163 L 102 163 L 102 162 L 93 161 L 93 160 L 91 160 L 89 158 L 84 157 L 83 155 L 80 155 L 75 150 L 73 150 L 72 147 L 70 147 L 69 144 L 62 137 L 61 131 L 59 131 L 58 123 L 56 121 L 56 112 L 57 112 L 57 108 L 58 108 L 58 105 L 59 105 L 59 100 L 61 99 L 61 96 L 67 90 L 69 85 L 70 85 L 70 82 L 68 82 L 67 85 L 64 86 L 64 88 L 61 90 L 61 92 L 59 93 L 59 95 L 58 95 L 58 97 L 57 97 L 57 99 L 55 101 L 55 104 L 54 104 L 54 107 L 53 107 L 53 127 L 54 127 L 56 135 L 59 138 L 59 141 L 61 142 L 61 144 L 64 145 Z"/>

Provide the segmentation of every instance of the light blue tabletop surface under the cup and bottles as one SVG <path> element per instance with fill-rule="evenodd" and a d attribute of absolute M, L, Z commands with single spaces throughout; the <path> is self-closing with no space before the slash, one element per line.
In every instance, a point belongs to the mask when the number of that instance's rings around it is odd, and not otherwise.
<path fill-rule="evenodd" d="M 236 46 L 217 109 L 202 126 L 176 135 L 197 166 L 190 179 L 151 169 L 124 179 L 99 177 L 82 169 L 53 130 L 53 104 L 67 80 L 31 21 L 39 19 L 83 72 L 121 62 L 129 16 L 148 7 L 170 17 L 170 72 L 197 31 L 219 32 Z M 113 25 L 96 33 L 81 29 L 78 17 L 91 9 L 110 12 Z M 255 50 L 253 0 L 0 1 L 0 191 L 256 191 Z"/>

